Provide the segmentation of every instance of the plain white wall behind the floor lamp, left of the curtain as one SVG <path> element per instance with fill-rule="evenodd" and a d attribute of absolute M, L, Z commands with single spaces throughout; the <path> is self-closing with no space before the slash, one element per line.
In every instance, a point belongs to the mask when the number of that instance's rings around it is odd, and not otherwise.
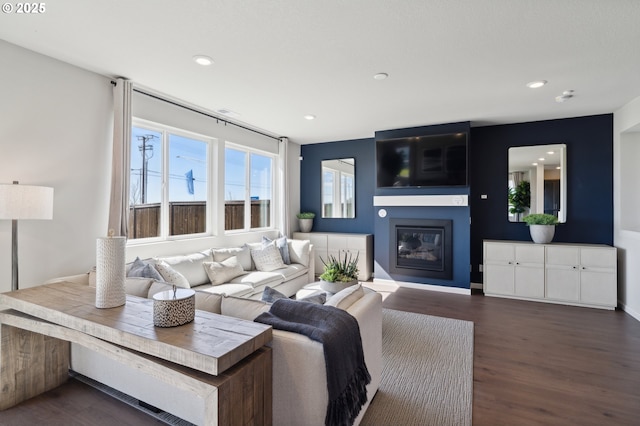
<path fill-rule="evenodd" d="M 107 227 L 112 89 L 106 77 L 0 40 L 0 182 L 54 188 L 52 221 L 18 223 L 20 287 L 83 271 Z M 0 221 L 0 291 L 11 222 Z"/>

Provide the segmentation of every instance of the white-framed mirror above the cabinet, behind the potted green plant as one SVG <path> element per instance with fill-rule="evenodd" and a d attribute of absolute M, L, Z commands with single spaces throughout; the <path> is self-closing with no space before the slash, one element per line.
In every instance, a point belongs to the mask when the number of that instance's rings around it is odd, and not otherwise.
<path fill-rule="evenodd" d="M 567 146 L 534 145 L 509 148 L 508 215 L 522 222 L 532 213 L 567 218 Z"/>

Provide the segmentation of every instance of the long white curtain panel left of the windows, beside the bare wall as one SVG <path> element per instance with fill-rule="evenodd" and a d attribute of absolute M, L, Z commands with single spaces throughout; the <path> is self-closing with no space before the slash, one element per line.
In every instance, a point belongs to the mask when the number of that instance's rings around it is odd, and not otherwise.
<path fill-rule="evenodd" d="M 119 78 L 113 87 L 113 160 L 109 227 L 126 237 L 129 224 L 129 168 L 131 156 L 131 96 L 133 83 Z"/>

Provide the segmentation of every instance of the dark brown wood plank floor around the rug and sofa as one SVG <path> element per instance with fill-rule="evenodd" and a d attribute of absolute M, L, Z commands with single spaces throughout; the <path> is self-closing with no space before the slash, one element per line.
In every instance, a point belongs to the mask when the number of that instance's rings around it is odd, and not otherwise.
<path fill-rule="evenodd" d="M 414 289 L 384 306 L 475 323 L 474 425 L 640 424 L 640 322 L 621 311 Z M 75 380 L 0 425 L 151 425 Z"/>

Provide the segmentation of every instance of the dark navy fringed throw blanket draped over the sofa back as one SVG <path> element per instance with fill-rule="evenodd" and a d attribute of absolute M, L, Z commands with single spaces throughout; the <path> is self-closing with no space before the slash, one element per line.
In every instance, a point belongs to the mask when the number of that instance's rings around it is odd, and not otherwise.
<path fill-rule="evenodd" d="M 322 343 L 329 393 L 325 425 L 352 425 L 367 402 L 367 385 L 371 382 L 358 321 L 333 306 L 291 299 L 276 300 L 269 312 L 255 321 Z"/>

